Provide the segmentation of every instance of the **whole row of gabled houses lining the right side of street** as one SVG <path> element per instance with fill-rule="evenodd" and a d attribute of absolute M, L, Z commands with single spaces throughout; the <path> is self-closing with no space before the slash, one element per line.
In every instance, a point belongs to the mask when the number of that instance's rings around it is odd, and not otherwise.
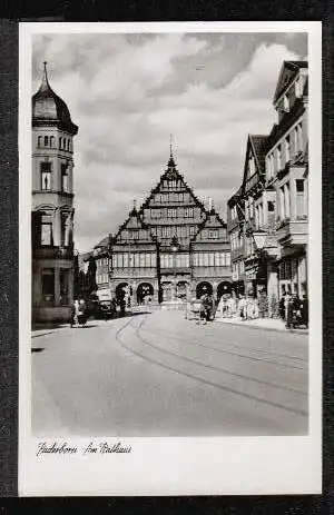
<path fill-rule="evenodd" d="M 228 200 L 234 280 L 246 295 L 307 294 L 307 62 L 284 61 L 267 136 L 249 135 L 243 182 Z M 243 265 L 242 265 L 243 263 Z"/>

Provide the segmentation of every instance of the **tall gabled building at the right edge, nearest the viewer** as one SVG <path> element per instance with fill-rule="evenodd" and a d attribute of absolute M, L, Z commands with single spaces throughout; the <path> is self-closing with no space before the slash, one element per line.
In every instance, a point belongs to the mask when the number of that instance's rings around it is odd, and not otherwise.
<path fill-rule="evenodd" d="M 279 296 L 307 294 L 308 129 L 307 62 L 284 62 L 266 155 L 267 185 L 276 192 L 276 237 Z"/>

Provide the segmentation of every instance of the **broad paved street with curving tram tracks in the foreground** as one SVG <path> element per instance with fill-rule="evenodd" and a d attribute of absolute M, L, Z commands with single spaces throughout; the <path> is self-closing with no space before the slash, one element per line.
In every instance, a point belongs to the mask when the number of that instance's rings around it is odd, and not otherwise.
<path fill-rule="evenodd" d="M 38 435 L 299 435 L 307 402 L 303 334 L 156 311 L 32 338 Z"/>

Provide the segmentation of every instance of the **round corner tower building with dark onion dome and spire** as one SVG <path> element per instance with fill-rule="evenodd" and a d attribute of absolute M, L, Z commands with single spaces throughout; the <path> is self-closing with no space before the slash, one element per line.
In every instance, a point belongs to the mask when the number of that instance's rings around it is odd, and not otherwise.
<path fill-rule="evenodd" d="M 73 300 L 73 137 L 47 63 L 32 97 L 32 320 L 65 321 Z"/>

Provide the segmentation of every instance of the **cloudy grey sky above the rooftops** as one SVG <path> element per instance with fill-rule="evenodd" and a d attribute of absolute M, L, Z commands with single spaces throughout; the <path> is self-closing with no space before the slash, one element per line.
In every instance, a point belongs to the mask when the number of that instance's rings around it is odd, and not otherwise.
<path fill-rule="evenodd" d="M 115 234 L 157 185 L 173 152 L 195 194 L 226 220 L 248 133 L 276 122 L 284 60 L 307 58 L 303 33 L 35 34 L 32 89 L 43 61 L 79 126 L 75 245 Z"/>

